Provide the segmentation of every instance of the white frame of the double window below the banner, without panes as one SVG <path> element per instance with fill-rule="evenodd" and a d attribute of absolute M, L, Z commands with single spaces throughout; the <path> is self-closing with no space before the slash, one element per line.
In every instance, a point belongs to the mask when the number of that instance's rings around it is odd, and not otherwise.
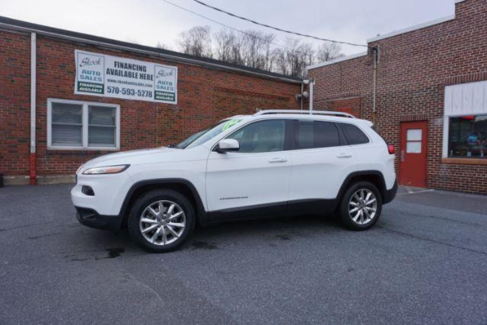
<path fill-rule="evenodd" d="M 75 104 L 82 105 L 82 146 L 53 146 L 52 144 L 52 104 Z M 115 147 L 93 147 L 88 146 L 88 106 L 111 107 L 115 109 Z M 47 149 L 48 150 L 97 150 L 97 151 L 118 151 L 120 150 L 120 105 L 99 103 L 95 101 L 71 100 L 47 98 Z"/>

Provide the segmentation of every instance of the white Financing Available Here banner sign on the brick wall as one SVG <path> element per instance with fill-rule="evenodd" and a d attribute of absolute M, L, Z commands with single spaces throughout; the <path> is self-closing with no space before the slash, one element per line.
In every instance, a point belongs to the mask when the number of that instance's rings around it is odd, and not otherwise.
<path fill-rule="evenodd" d="M 177 104 L 178 67 L 75 50 L 75 94 Z"/>

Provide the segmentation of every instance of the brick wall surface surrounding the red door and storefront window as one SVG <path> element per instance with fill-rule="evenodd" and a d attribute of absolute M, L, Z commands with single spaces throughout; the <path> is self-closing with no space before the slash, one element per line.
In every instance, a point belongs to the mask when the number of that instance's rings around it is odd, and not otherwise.
<path fill-rule="evenodd" d="M 400 121 L 428 120 L 427 186 L 487 194 L 487 165 L 442 163 L 445 85 L 487 79 L 487 1 L 455 5 L 455 19 L 369 43 L 379 46 L 376 115 L 372 53 L 308 72 L 315 109 L 359 96 L 360 115 L 399 147 Z M 369 51 L 371 52 L 371 51 Z M 396 170 L 398 170 L 396 157 Z"/>

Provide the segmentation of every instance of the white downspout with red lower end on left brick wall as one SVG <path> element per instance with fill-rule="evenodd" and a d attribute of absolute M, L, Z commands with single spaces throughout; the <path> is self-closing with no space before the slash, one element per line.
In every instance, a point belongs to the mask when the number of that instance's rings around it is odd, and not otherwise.
<path fill-rule="evenodd" d="M 30 144 L 30 184 L 37 184 L 36 169 L 36 33 L 31 33 L 31 144 Z"/>

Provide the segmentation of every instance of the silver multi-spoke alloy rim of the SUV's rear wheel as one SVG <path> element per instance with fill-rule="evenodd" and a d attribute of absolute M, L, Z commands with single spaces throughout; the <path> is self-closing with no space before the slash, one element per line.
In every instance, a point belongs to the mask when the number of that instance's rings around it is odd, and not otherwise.
<path fill-rule="evenodd" d="M 374 192 L 360 189 L 352 195 L 348 203 L 348 213 L 358 225 L 366 225 L 372 221 L 377 211 L 377 198 Z"/>

